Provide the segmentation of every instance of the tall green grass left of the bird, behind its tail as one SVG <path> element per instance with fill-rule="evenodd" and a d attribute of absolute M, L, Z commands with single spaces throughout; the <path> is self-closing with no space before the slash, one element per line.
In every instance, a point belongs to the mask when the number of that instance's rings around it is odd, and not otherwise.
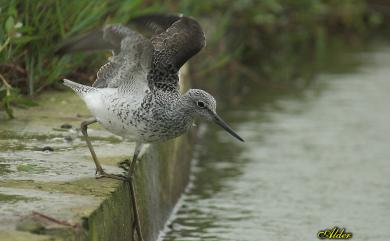
<path fill-rule="evenodd" d="M 110 22 L 155 11 L 133 1 L 0 0 L 0 105 L 13 117 L 11 104 L 28 106 L 30 98 L 75 69 L 97 66 L 101 58 L 54 56 L 62 39 Z"/>

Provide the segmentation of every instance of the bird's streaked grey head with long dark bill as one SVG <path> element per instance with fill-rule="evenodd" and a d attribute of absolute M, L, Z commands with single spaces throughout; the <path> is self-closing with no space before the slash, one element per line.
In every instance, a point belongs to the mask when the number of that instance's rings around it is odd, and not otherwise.
<path fill-rule="evenodd" d="M 229 132 L 240 141 L 244 141 L 233 129 L 217 114 L 217 103 L 212 95 L 204 90 L 190 89 L 185 96 L 189 100 L 189 107 L 195 117 L 212 121 Z"/>

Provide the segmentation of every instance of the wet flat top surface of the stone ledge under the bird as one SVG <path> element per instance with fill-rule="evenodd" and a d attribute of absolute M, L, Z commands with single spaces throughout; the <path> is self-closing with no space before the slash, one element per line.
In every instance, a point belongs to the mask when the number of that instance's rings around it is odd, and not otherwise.
<path fill-rule="evenodd" d="M 78 128 L 89 112 L 77 96 L 54 92 L 38 102 L 37 107 L 16 109 L 13 120 L 0 113 L 1 240 L 12 232 L 15 239 L 26 235 L 15 230 L 29 231 L 21 224 L 33 212 L 79 223 L 120 183 L 94 178 L 95 166 Z M 117 163 L 132 154 L 133 143 L 98 125 L 89 134 L 105 170 L 122 173 Z"/>

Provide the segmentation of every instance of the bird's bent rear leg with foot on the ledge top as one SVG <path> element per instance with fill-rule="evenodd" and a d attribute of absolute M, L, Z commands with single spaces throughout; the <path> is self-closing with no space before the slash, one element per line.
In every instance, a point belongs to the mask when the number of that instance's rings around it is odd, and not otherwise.
<path fill-rule="evenodd" d="M 83 136 L 85 137 L 85 141 L 87 142 L 88 149 L 91 152 L 93 161 L 95 162 L 96 174 L 98 175 L 98 176 L 96 176 L 96 178 L 108 177 L 108 178 L 112 178 L 112 179 L 126 181 L 127 178 L 124 177 L 124 176 L 113 175 L 113 174 L 106 173 L 103 170 L 102 165 L 100 165 L 100 162 L 97 159 L 95 150 L 93 149 L 91 141 L 89 140 L 88 131 L 87 131 L 88 130 L 88 126 L 90 124 L 93 124 L 93 123 L 96 123 L 96 122 L 97 122 L 97 120 L 95 118 L 91 118 L 91 119 L 88 119 L 86 121 L 81 122 L 81 133 L 83 133 Z"/>

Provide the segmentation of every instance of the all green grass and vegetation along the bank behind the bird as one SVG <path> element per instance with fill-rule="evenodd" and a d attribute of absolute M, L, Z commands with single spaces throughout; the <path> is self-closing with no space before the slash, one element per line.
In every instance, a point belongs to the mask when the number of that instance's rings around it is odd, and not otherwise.
<path fill-rule="evenodd" d="M 12 117 L 11 105 L 33 104 L 25 96 L 55 88 L 64 75 L 93 80 L 106 56 L 54 56 L 62 39 L 151 12 L 201 20 L 208 46 L 195 60 L 199 79 L 218 71 L 290 80 L 302 59 L 321 55 L 328 35 L 362 35 L 381 23 L 364 0 L 0 0 L 0 110 Z M 258 73 L 248 64 L 258 66 Z"/>

